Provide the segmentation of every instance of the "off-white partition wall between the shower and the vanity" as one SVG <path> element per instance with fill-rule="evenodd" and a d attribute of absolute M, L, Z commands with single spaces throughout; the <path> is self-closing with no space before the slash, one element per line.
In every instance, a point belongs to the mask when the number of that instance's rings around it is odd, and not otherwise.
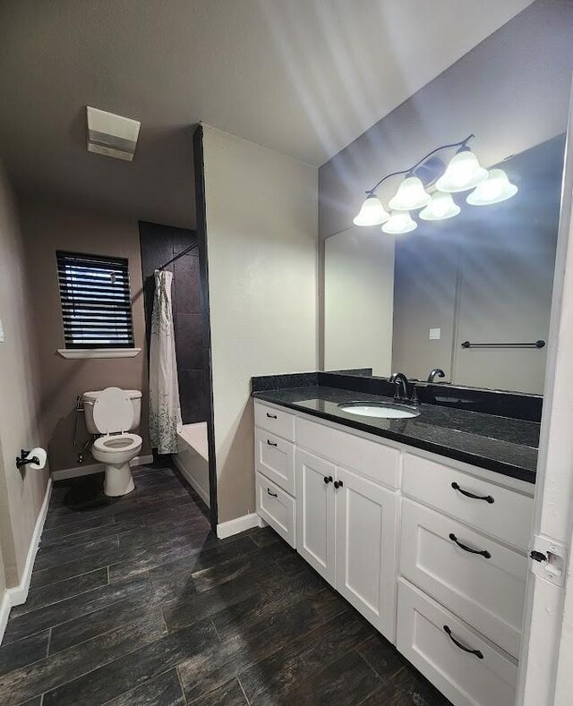
<path fill-rule="evenodd" d="M 316 370 L 318 172 L 204 126 L 218 521 L 255 508 L 253 375 Z"/>

